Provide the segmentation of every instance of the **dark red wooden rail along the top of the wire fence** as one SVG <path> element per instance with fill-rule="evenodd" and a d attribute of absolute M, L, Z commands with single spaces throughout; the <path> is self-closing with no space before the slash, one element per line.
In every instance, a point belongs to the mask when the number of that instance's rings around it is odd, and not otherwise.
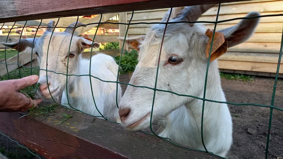
<path fill-rule="evenodd" d="M 5 0 L 0 5 L 0 23 L 235 1 L 244 0 L 45 0 L 32 5 L 30 0 Z"/>

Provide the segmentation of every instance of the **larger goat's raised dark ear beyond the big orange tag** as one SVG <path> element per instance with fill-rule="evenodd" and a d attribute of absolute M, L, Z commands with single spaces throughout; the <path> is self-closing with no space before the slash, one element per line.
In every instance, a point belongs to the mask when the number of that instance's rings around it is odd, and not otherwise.
<path fill-rule="evenodd" d="M 259 15 L 260 13 L 258 12 L 250 12 L 246 17 L 255 17 Z M 257 27 L 259 20 L 259 18 L 243 19 L 237 25 L 219 30 L 218 32 L 224 34 L 225 41 L 228 42 L 228 47 L 232 47 L 249 39 Z"/>

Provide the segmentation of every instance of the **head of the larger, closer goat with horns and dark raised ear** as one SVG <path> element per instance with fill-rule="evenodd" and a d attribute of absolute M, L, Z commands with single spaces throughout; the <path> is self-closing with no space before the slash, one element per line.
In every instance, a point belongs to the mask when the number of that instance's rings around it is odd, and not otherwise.
<path fill-rule="evenodd" d="M 170 22 L 195 21 L 211 6 L 185 7 L 179 13 L 175 12 L 176 15 L 170 17 Z M 257 12 L 252 12 L 247 17 L 257 15 Z M 163 18 L 163 22 L 167 18 L 168 12 Z M 248 39 L 257 26 L 258 21 L 258 18 L 241 20 L 238 25 L 218 32 L 224 34 L 228 47 L 231 47 Z M 156 89 L 202 97 L 208 61 L 205 55 L 205 48 L 209 39 L 205 35 L 205 27 L 197 23 L 168 24 L 160 52 L 164 29 L 165 24 L 158 24 L 152 27 L 151 31 L 147 33 L 145 39 L 141 42 L 139 62 L 131 77 L 130 84 L 154 88 L 158 66 Z M 158 63 L 159 54 L 160 62 Z M 208 78 L 210 77 L 220 78 L 217 60 L 211 62 L 208 71 Z M 208 86 L 213 85 L 210 83 L 210 80 L 212 79 L 208 79 Z M 219 87 L 221 89 L 221 86 Z M 191 97 L 178 96 L 170 92 L 156 90 L 154 107 L 151 112 L 153 96 L 153 89 L 128 86 L 119 106 L 119 114 L 123 126 L 130 130 L 143 129 L 149 126 L 151 114 L 152 121 L 161 120 L 166 118 L 173 110 L 193 100 Z"/>

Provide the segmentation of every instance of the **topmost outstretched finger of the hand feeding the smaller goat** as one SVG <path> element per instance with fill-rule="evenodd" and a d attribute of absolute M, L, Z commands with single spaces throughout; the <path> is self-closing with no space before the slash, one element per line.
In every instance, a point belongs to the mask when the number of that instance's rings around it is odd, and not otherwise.
<path fill-rule="evenodd" d="M 10 80 L 10 81 L 14 85 L 16 91 L 20 91 L 21 89 L 24 89 L 28 86 L 37 83 L 38 79 L 39 77 L 37 75 L 31 75 L 31 76 L 23 77 L 21 79 Z"/>

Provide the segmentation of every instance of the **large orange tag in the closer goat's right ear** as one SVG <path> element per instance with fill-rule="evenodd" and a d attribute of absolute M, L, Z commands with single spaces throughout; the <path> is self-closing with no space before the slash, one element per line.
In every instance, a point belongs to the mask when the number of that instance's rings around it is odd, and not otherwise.
<path fill-rule="evenodd" d="M 208 40 L 208 43 L 205 49 L 206 57 L 208 58 L 212 36 L 213 36 L 213 30 L 207 29 L 205 32 L 205 35 L 209 37 L 209 40 Z M 215 60 L 216 58 L 219 58 L 221 55 L 227 52 L 227 48 L 228 48 L 228 42 L 225 41 L 223 33 L 215 32 L 214 38 L 213 38 L 213 44 L 211 48 L 210 62 Z"/>

